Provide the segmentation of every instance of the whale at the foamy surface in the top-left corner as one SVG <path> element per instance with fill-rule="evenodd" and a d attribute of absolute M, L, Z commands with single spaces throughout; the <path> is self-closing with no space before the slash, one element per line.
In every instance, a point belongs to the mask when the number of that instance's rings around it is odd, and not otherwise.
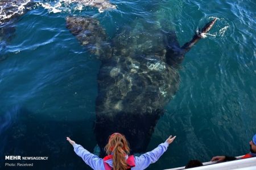
<path fill-rule="evenodd" d="M 11 42 L 15 35 L 15 23 L 19 20 L 19 16 L 26 14 L 32 9 L 39 6 L 49 10 L 49 13 L 55 7 L 59 7 L 61 3 L 90 6 L 98 9 L 100 13 L 108 9 L 116 9 L 116 6 L 105 0 L 60 0 L 57 5 L 51 6 L 51 1 L 34 1 L 34 0 L 1 0 L 0 1 L 0 52 Z M 56 11 L 58 9 L 55 9 Z M 1 54 L 1 53 L 0 53 Z M 6 55 L 0 55 L 0 61 L 7 58 Z"/>

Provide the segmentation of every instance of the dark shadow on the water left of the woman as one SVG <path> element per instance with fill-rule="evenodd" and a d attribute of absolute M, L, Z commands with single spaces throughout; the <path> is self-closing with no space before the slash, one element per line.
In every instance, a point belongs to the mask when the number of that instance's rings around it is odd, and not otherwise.
<path fill-rule="evenodd" d="M 88 134 L 86 123 L 82 121 L 41 121 L 26 107 L 15 106 L 1 115 L 0 128 L 1 155 L 48 157 L 48 160 L 5 160 L 3 158 L 0 161 L 0 169 L 5 167 L 5 163 L 33 163 L 35 169 L 73 169 L 75 167 L 89 169 L 75 155 L 73 147 L 66 141 L 66 136 L 70 136 L 77 143 L 86 144 L 86 148 L 94 147 L 95 142 L 86 138 Z M 15 169 L 26 169 L 26 167 L 15 167 Z"/>

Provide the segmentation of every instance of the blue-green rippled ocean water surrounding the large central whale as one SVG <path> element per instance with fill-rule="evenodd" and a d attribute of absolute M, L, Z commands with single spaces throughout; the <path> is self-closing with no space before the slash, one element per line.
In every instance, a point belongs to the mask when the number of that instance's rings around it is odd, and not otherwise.
<path fill-rule="evenodd" d="M 147 151 L 176 135 L 147 169 L 174 168 L 190 159 L 249 152 L 256 134 L 256 3 L 249 1 L 110 1 L 115 9 L 68 1 L 37 1 L 12 23 L 0 43 L 0 169 L 5 155 L 48 156 L 27 169 L 90 169 L 65 140 L 90 152 L 96 139 L 95 100 L 101 61 L 65 26 L 70 15 L 100 20 L 109 39 L 134 22 L 174 31 L 182 45 L 218 18 L 185 55 L 180 85 L 164 107 Z M 7 34 L 5 34 L 7 35 Z M 19 169 L 15 167 L 13 169 Z"/>

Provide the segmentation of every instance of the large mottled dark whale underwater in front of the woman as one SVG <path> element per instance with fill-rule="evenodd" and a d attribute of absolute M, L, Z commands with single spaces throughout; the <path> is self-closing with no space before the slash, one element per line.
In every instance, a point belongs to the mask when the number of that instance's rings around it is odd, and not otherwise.
<path fill-rule="evenodd" d="M 205 25 L 201 34 L 214 22 Z M 133 153 L 144 152 L 163 107 L 179 87 L 177 68 L 201 34 L 180 47 L 174 32 L 141 21 L 111 41 L 93 18 L 68 17 L 67 28 L 101 60 L 94 129 L 101 151 L 110 134 L 121 132 Z"/>

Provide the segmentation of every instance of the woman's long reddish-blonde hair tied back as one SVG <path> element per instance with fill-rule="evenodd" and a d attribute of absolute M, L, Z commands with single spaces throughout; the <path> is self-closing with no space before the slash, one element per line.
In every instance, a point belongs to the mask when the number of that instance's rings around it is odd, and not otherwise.
<path fill-rule="evenodd" d="M 124 135 L 114 133 L 109 136 L 109 142 L 105 146 L 106 154 L 110 155 L 113 152 L 113 169 L 127 169 L 125 155 L 130 154 L 129 143 Z"/>

